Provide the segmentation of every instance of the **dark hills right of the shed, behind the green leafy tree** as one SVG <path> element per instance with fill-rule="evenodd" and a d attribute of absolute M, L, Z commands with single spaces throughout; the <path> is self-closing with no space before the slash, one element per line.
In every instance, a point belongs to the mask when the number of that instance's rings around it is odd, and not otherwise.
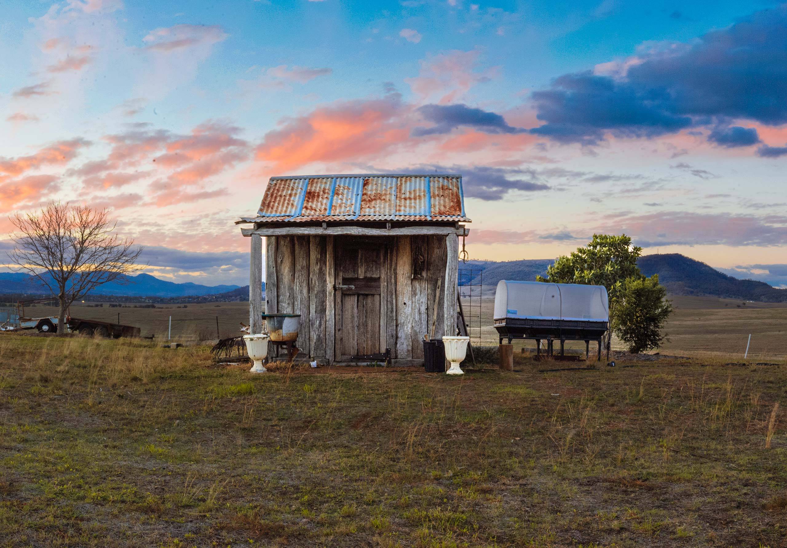
<path fill-rule="evenodd" d="M 522 261 L 467 261 L 460 263 L 460 284 L 463 268 L 482 272 L 473 283 L 482 281 L 485 286 L 496 286 L 500 280 L 534 281 L 539 274 L 545 276 L 552 259 L 524 259 Z M 704 262 L 695 261 L 681 254 L 654 254 L 640 257 L 637 262 L 645 276 L 659 275 L 667 292 L 674 295 L 708 295 L 722 298 L 740 298 L 746 301 L 787 302 L 787 289 L 777 289 L 765 282 L 739 280 L 719 272 Z M 464 283 L 463 283 L 464 281 Z"/>

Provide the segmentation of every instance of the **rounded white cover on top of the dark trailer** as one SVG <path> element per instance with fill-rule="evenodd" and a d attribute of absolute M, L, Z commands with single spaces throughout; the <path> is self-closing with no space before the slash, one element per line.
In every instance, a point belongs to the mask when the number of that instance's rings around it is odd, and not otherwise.
<path fill-rule="evenodd" d="M 494 319 L 609 321 L 604 286 L 501 280 L 494 297 Z"/>

